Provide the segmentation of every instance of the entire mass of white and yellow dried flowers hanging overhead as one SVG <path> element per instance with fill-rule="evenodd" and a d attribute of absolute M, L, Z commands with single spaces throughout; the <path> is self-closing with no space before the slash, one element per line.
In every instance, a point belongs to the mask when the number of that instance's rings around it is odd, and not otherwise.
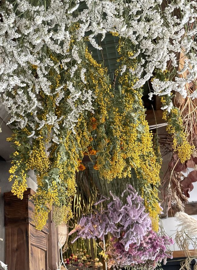
<path fill-rule="evenodd" d="M 180 18 L 173 15 L 177 8 Z M 136 5 L 122 0 L 86 0 L 85 5 L 51 0 L 45 6 L 12 0 L 0 4 L 0 15 L 0 100 L 10 114 L 13 136 L 8 140 L 15 147 L 9 180 L 14 181 L 13 194 L 22 199 L 28 171 L 34 170 L 36 228 L 43 227 L 52 205 L 65 210 L 63 222 L 72 216 L 75 171 L 84 169 L 80 161 L 88 153 L 95 154 L 95 169 L 109 181 L 130 176 L 135 169 L 157 231 L 160 164 L 145 121 L 142 86 L 154 72 L 164 73 L 169 59 L 175 68 L 184 45 L 185 79 L 173 73 L 175 79 L 169 76 L 162 82 L 155 77 L 152 85 L 156 95 L 169 98 L 174 87 L 186 96 L 185 81 L 193 82 L 196 74 L 196 30 L 186 31 L 188 22 L 196 22 L 195 2 L 172 1 L 163 9 L 159 0 Z M 120 37 L 118 90 L 106 67 L 87 49 L 89 42 L 101 50 L 95 36 L 104 39 L 108 32 Z M 171 112 L 169 123 L 176 113 L 170 106 L 163 108 Z M 174 122 L 170 127 L 175 128 Z M 184 133 L 174 133 L 175 149 L 184 161 L 191 147 Z"/>

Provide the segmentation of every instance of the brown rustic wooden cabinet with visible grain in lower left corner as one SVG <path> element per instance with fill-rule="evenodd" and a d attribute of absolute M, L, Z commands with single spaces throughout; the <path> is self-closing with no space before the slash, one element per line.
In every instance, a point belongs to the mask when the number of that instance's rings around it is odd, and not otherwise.
<path fill-rule="evenodd" d="M 4 193 L 5 263 L 8 270 L 48 270 L 48 223 L 35 229 L 31 200 L 35 191 L 28 188 L 22 200 Z"/>

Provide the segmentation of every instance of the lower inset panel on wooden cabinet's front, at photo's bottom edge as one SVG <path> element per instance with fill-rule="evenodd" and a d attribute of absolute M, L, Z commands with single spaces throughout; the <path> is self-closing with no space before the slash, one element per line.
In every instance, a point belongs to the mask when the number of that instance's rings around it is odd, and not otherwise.
<path fill-rule="evenodd" d="M 31 245 L 30 264 L 31 270 L 48 270 L 46 251 Z"/>

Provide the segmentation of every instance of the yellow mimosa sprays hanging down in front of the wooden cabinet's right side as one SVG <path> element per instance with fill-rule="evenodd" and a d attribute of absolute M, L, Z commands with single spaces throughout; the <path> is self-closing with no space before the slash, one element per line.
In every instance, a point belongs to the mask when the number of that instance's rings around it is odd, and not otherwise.
<path fill-rule="evenodd" d="M 35 156 L 37 157 L 36 152 Z M 66 137 L 62 138 L 60 145 L 53 143 L 50 147 L 48 158 L 50 162 L 45 162 L 45 165 L 43 165 L 44 170 L 39 168 L 40 177 L 37 175 L 38 190 L 35 194 L 35 225 L 38 230 L 41 230 L 45 225 L 52 205 L 55 205 L 54 219 L 57 224 L 67 222 L 72 217 L 71 201 L 76 193 L 75 171 L 78 170 L 78 158 L 75 138 L 72 136 L 71 131 L 68 131 Z M 43 161 L 41 154 L 40 160 L 35 163 L 36 168 Z M 48 182 L 50 188 L 46 190 L 43 186 L 43 177 L 50 169 L 48 164 L 50 164 L 51 170 L 53 168 L 58 170 L 59 180 Z M 51 177 L 54 176 L 51 175 Z M 61 197 L 59 197 L 60 194 Z"/>

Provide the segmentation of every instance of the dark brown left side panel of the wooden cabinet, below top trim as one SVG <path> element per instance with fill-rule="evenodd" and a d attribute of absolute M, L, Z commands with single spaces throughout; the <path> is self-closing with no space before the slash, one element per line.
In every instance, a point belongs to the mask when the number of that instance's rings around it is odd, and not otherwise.
<path fill-rule="evenodd" d="M 5 263 L 8 270 L 29 270 L 28 224 L 5 228 Z"/>

